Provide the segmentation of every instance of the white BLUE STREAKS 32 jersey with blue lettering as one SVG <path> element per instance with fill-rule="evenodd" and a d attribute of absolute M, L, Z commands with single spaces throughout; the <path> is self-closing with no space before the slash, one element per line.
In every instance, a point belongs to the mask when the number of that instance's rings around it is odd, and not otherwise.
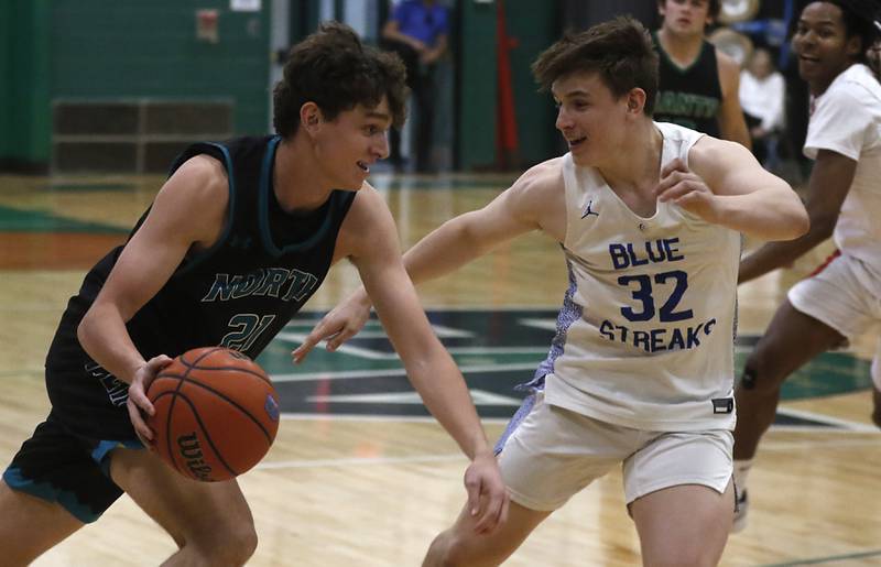
<path fill-rule="evenodd" d="M 704 134 L 670 123 L 662 166 Z M 655 432 L 731 429 L 740 233 L 672 203 L 634 214 L 594 167 L 563 157 L 569 288 L 536 378 L 545 399 Z"/>

